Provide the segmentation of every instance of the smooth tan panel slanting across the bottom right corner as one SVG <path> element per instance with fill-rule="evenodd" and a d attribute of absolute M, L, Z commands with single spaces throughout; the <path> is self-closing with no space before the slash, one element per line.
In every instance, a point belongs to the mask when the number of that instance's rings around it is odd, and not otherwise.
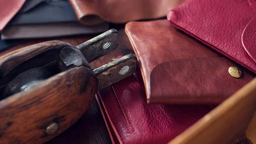
<path fill-rule="evenodd" d="M 255 103 L 256 78 L 169 144 L 230 144 L 244 134 Z"/>

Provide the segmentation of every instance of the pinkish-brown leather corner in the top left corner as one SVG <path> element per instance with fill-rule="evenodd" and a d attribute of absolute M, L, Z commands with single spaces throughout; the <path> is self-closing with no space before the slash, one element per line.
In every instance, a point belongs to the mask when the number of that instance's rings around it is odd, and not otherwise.
<path fill-rule="evenodd" d="M 0 32 L 21 9 L 26 0 L 0 0 Z"/>

